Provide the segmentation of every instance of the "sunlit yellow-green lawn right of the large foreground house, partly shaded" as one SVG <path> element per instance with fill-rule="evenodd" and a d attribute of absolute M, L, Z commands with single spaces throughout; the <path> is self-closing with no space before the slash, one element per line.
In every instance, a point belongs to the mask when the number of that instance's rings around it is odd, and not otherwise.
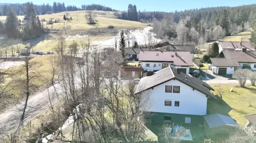
<path fill-rule="evenodd" d="M 216 88 L 218 85 L 213 84 L 211 86 Z M 241 88 L 238 84 L 222 84 L 221 88 L 225 91 L 222 95 L 222 103 L 220 96 L 216 96 L 217 99 L 209 99 L 207 114 L 230 115 L 243 128 L 247 122 L 244 115 L 256 113 L 256 87 Z M 231 88 L 233 88 L 233 92 L 229 91 Z M 214 91 L 214 94 L 218 94 L 218 92 Z"/>

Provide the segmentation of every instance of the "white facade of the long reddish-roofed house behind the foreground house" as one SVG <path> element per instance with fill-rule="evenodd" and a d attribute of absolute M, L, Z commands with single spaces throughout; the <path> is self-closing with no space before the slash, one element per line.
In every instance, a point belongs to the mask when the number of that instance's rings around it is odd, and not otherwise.
<path fill-rule="evenodd" d="M 168 64 L 168 66 L 173 65 L 173 63 L 159 63 L 159 62 L 142 62 L 142 68 L 146 71 L 148 69 L 153 69 L 155 71 L 159 71 L 162 69 L 163 64 Z M 149 65 L 147 67 L 146 65 Z M 190 73 L 190 67 L 181 67 L 181 66 L 175 66 L 175 68 L 185 68 L 186 74 L 188 75 Z"/>

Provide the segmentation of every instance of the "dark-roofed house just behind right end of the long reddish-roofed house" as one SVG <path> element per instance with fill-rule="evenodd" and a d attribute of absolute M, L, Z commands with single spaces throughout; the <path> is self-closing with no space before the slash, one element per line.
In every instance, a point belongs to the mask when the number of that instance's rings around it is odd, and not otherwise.
<path fill-rule="evenodd" d="M 196 53 L 195 45 L 172 45 L 170 44 L 167 47 L 167 51 L 173 51 L 173 52 L 190 52 L 190 56 L 193 59 L 194 54 Z"/>

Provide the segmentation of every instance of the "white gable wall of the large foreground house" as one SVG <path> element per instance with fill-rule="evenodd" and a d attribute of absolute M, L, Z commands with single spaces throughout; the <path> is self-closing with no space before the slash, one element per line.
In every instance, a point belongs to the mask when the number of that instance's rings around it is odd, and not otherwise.
<path fill-rule="evenodd" d="M 166 86 L 180 86 L 180 93 L 165 92 Z M 148 91 L 144 91 L 148 92 Z M 205 94 L 192 89 L 178 80 L 170 80 L 169 82 L 160 84 L 151 90 L 150 98 L 152 106 L 146 111 L 158 113 L 175 113 L 190 115 L 206 115 L 207 97 Z M 166 101 L 172 101 L 172 106 L 165 106 Z M 180 102 L 180 106 L 175 106 L 175 101 Z"/>

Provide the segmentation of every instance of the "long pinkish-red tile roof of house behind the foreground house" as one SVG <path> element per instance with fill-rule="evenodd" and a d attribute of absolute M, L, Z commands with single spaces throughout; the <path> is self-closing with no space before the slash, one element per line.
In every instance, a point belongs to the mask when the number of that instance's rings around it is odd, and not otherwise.
<path fill-rule="evenodd" d="M 175 65 L 180 66 L 194 65 L 190 56 L 190 52 L 144 51 L 140 52 L 139 61 L 173 61 Z"/>

